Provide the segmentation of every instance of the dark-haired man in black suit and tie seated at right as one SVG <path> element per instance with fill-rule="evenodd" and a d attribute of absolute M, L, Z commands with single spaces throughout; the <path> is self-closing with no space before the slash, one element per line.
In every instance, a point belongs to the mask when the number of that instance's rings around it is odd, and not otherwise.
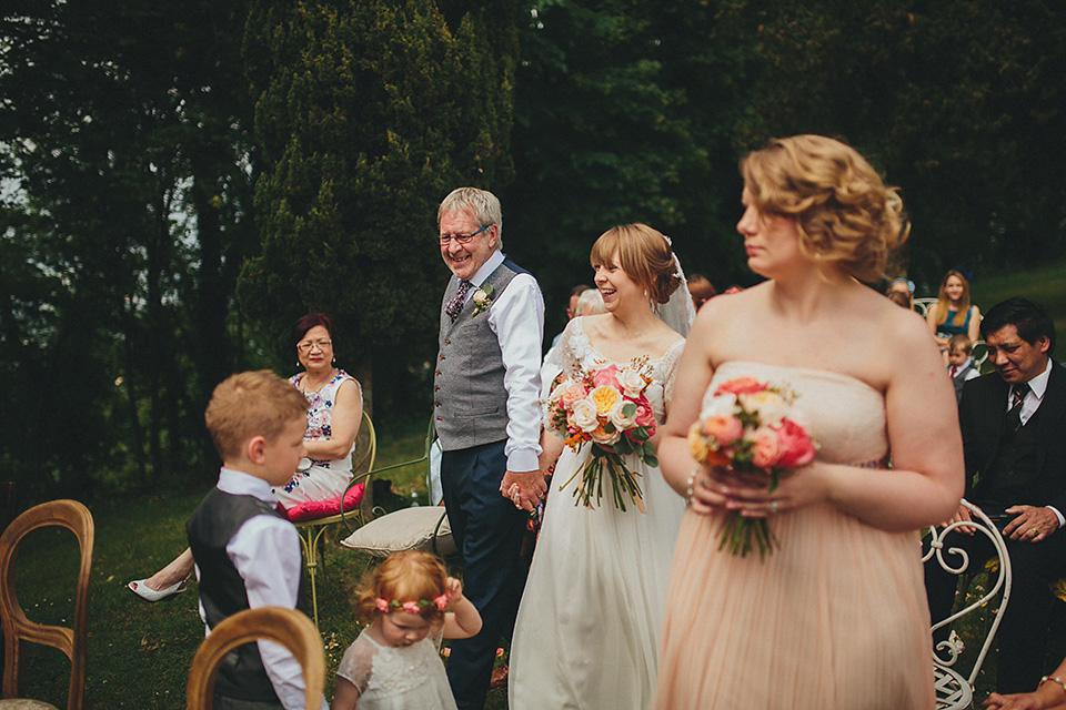
<path fill-rule="evenodd" d="M 1050 358 L 1055 325 L 1032 301 L 995 305 L 980 333 L 996 372 L 963 387 L 966 498 L 1004 521 L 1014 587 L 998 632 L 996 689 L 1022 692 L 1043 674 L 1050 585 L 1066 575 L 1066 534 L 1058 531 L 1066 510 L 1066 369 Z M 962 507 L 953 518 L 959 519 L 969 519 Z M 990 554 L 983 536 L 955 532 L 945 540 L 952 545 L 978 558 Z M 955 582 L 935 560 L 926 565 L 934 621 L 951 612 Z"/>

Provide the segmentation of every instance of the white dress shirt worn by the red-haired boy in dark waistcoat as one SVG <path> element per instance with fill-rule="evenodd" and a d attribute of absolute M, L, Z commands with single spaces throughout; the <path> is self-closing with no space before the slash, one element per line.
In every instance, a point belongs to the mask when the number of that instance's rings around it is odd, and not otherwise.
<path fill-rule="evenodd" d="M 278 499 L 270 490 L 270 484 L 232 468 L 223 467 L 219 471 L 218 488 L 222 493 L 254 496 L 271 506 L 278 505 Z M 272 515 L 258 515 L 250 518 L 225 546 L 225 554 L 244 579 L 250 608 L 268 606 L 296 608 L 303 560 L 300 557 L 300 537 L 291 523 Z M 197 566 L 197 579 L 200 579 L 199 566 Z M 203 610 L 202 601 L 200 618 L 207 628 L 208 616 Z M 207 633 L 210 635 L 210 630 Z M 285 710 L 304 708 L 306 686 L 303 682 L 303 669 L 300 662 L 284 647 L 273 641 L 257 641 L 257 643 L 259 655 L 263 659 L 263 668 L 281 704 Z M 321 710 L 329 710 L 324 697 Z"/>

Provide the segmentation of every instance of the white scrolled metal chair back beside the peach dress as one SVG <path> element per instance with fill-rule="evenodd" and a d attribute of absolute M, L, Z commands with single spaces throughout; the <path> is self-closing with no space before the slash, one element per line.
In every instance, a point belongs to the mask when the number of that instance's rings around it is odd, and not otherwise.
<path fill-rule="evenodd" d="M 1012 581 L 1012 571 L 1010 571 L 1010 557 L 1007 555 L 1007 545 L 1003 540 L 1003 536 L 999 534 L 998 528 L 995 524 L 988 519 L 984 513 L 977 509 L 975 506 L 971 505 L 969 501 L 963 500 L 963 506 L 969 510 L 969 515 L 973 518 L 971 521 L 959 521 L 947 525 L 943 528 L 932 528 L 929 530 L 931 540 L 929 549 L 922 558 L 923 562 L 929 561 L 933 557 L 936 557 L 935 564 L 938 564 L 943 569 L 954 575 L 975 575 L 983 571 L 988 572 L 988 581 L 979 590 L 979 594 L 973 595 L 973 601 L 969 601 L 971 597 L 967 597 L 963 600 L 963 608 L 951 615 L 946 619 L 935 620 L 931 631 L 936 631 L 943 627 L 946 627 L 957 619 L 966 617 L 982 608 L 985 608 L 987 613 L 993 615 L 995 618 L 992 620 L 992 623 L 988 625 L 985 632 L 985 638 L 978 641 L 980 646 L 978 647 L 977 657 L 974 661 L 974 666 L 971 670 L 969 676 L 966 678 L 971 688 L 973 688 L 974 682 L 977 680 L 977 673 L 980 671 L 980 666 L 985 661 L 985 656 L 988 653 L 988 649 L 992 647 L 993 640 L 996 636 L 996 629 L 999 628 L 999 621 L 1003 618 L 1003 610 L 1007 606 L 1007 601 L 1010 598 L 1010 581 Z M 974 531 L 974 535 L 984 535 L 992 542 L 993 548 L 995 549 L 995 556 L 988 560 L 986 564 L 984 559 L 971 559 L 969 555 L 965 550 L 957 547 L 944 548 L 944 538 L 952 530 L 959 528 L 969 528 Z M 995 564 L 993 564 L 995 562 Z M 931 562 L 933 564 L 933 562 Z M 990 601 L 994 601 L 998 596 L 998 607 Z M 968 601 L 968 604 L 967 604 Z M 941 657 L 935 651 L 941 651 L 945 656 Z M 951 641 L 942 641 L 937 645 L 933 653 L 933 663 L 934 667 L 939 669 L 949 669 L 956 665 L 961 658 L 961 649 L 953 645 Z M 962 676 L 958 671 L 954 671 L 955 674 Z"/>

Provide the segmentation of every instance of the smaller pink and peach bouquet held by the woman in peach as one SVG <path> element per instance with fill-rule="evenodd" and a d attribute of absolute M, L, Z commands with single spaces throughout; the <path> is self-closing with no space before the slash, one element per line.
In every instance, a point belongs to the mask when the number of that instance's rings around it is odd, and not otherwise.
<path fill-rule="evenodd" d="M 773 493 L 783 476 L 809 464 L 817 448 L 807 430 L 790 417 L 796 397 L 752 377 L 722 383 L 688 429 L 693 457 L 706 466 L 764 477 Z M 744 557 L 754 544 L 765 558 L 775 542 L 766 518 L 745 518 L 733 510 L 722 526 L 718 549 Z"/>

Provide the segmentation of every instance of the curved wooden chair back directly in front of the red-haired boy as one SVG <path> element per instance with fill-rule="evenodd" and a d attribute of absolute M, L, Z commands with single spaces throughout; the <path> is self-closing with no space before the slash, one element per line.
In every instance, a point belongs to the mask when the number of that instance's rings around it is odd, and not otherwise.
<path fill-rule="evenodd" d="M 281 643 L 295 657 L 306 683 L 305 706 L 319 710 L 325 686 L 325 651 L 319 631 L 305 615 L 283 607 L 245 609 L 214 627 L 197 650 L 185 687 L 187 710 L 210 710 L 219 663 L 238 646 L 257 640 Z"/>

